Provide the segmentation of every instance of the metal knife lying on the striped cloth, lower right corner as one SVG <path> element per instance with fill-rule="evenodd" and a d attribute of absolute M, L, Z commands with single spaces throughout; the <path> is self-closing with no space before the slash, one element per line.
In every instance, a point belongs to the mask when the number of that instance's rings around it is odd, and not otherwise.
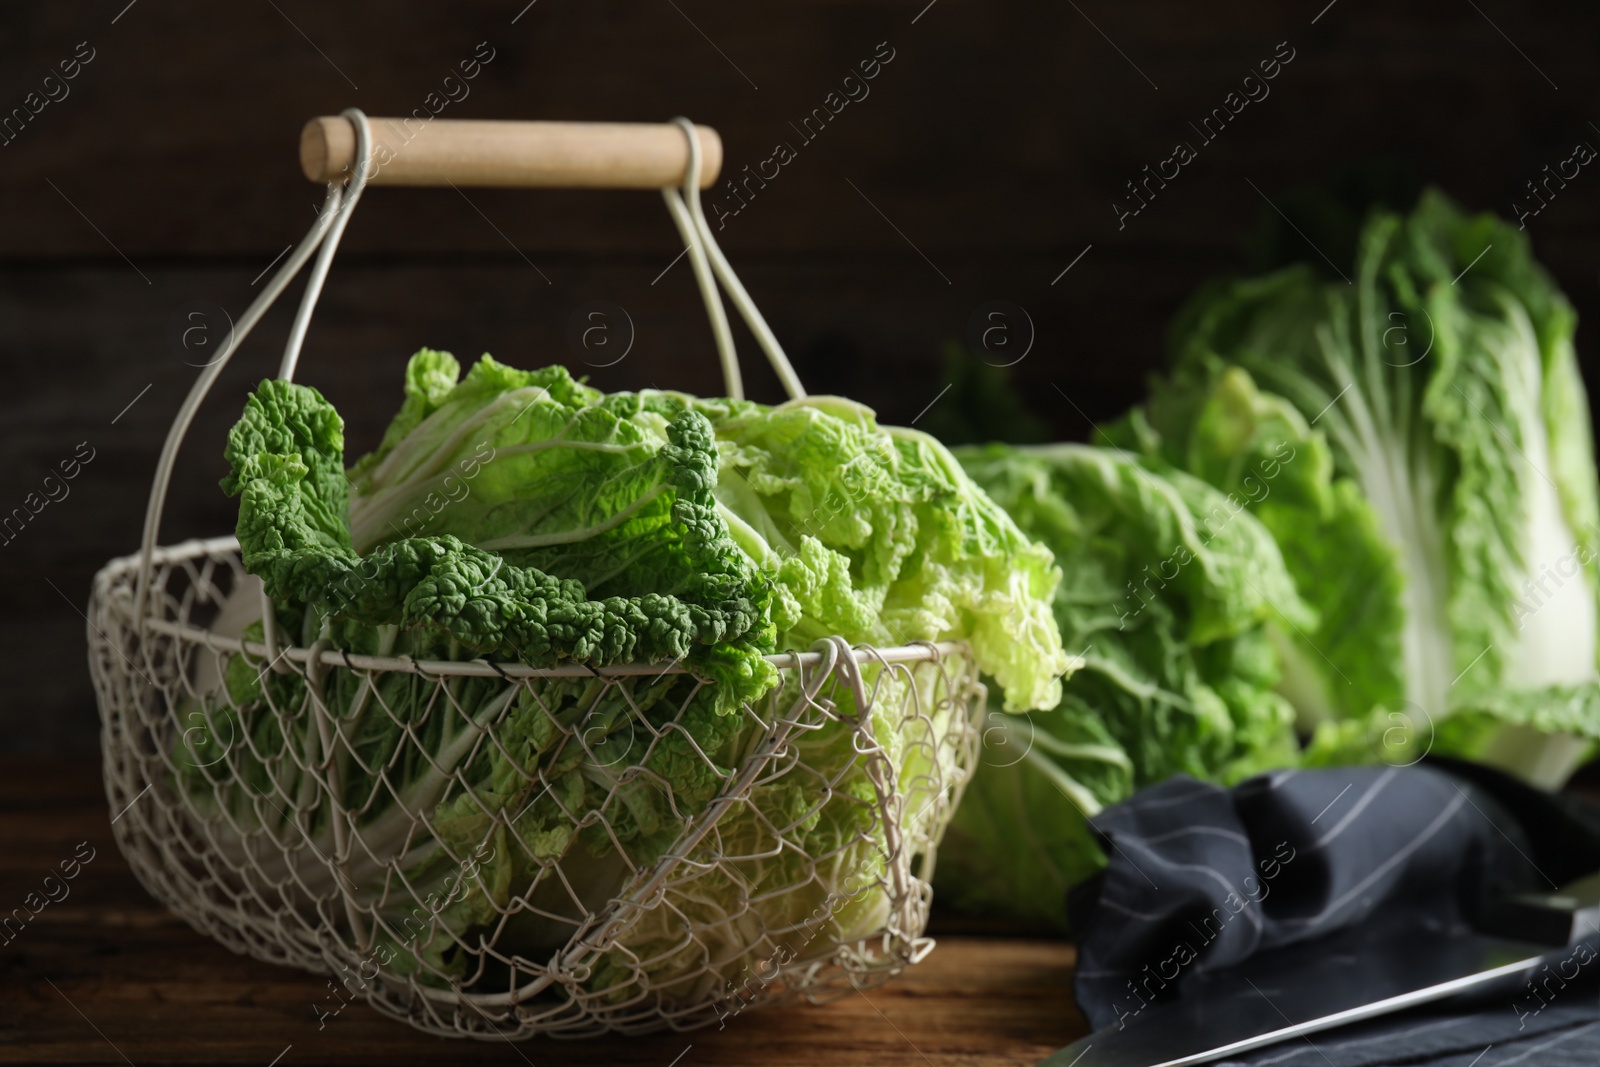
<path fill-rule="evenodd" d="M 1378 921 L 1197 973 L 1176 1000 L 1038 1067 L 1187 1067 L 1600 957 L 1600 873 L 1501 901 L 1475 925 Z M 1566 974 L 1571 977 L 1571 974 Z M 1507 1011 L 1512 1003 L 1507 1001 Z"/>

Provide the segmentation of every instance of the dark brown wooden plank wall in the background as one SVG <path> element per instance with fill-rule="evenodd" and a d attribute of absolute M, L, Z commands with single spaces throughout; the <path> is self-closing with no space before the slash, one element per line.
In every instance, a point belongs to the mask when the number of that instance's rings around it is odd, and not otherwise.
<path fill-rule="evenodd" d="M 96 744 L 80 609 L 94 571 L 138 547 L 157 451 L 206 358 L 174 323 L 206 302 L 237 317 L 251 280 L 310 224 L 322 192 L 299 174 L 301 125 L 350 106 L 410 114 L 478 42 L 494 58 L 443 118 L 685 114 L 722 133 L 725 173 L 795 146 L 720 232 L 723 248 L 814 392 L 955 437 L 1082 438 L 1126 408 L 1182 298 L 1282 235 L 1269 198 L 1302 218 L 1312 184 L 1426 181 L 1510 216 L 1544 165 L 1578 139 L 1600 146 L 1592 0 L 525 3 L 0 10 L 0 109 L 22 106 L 80 42 L 94 50 L 70 94 L 0 147 L 0 512 L 80 442 L 94 450 L 70 496 L 0 545 L 0 749 Z M 894 58 L 870 94 L 802 144 L 789 123 L 880 42 Z M 1270 96 L 1202 147 L 1189 122 L 1278 42 L 1294 59 Z M 1198 158 L 1118 230 L 1114 197 L 1179 139 Z M 1530 221 L 1586 323 L 1600 310 L 1592 170 Z M 421 346 L 563 362 L 605 389 L 720 392 L 686 264 L 653 282 L 678 250 L 656 194 L 374 189 L 301 381 L 344 413 L 352 454 L 376 443 Z M 589 368 L 566 342 L 594 299 L 635 325 L 614 366 Z M 1000 416 L 981 402 L 995 382 L 946 355 L 994 299 L 1035 328 L 1008 371 L 1022 411 Z M 216 488 L 222 437 L 245 390 L 274 373 L 291 306 L 202 411 L 165 542 L 232 530 Z M 1579 349 L 1595 350 L 1592 326 Z M 744 350 L 750 395 L 781 398 L 747 338 Z"/>

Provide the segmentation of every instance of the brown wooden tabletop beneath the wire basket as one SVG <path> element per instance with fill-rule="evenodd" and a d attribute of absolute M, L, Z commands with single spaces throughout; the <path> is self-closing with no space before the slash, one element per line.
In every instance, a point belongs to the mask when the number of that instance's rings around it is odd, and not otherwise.
<path fill-rule="evenodd" d="M 318 1030 L 325 981 L 237 957 L 170 915 L 110 838 L 94 760 L 0 760 L 0 913 L 80 841 L 94 859 L 0 937 L 0 1064 L 1034 1064 L 1083 1033 L 1072 945 L 944 920 L 939 947 L 883 989 L 726 1029 L 517 1045 L 429 1037 L 352 1005 Z M 37 904 L 37 901 L 34 901 Z"/>

